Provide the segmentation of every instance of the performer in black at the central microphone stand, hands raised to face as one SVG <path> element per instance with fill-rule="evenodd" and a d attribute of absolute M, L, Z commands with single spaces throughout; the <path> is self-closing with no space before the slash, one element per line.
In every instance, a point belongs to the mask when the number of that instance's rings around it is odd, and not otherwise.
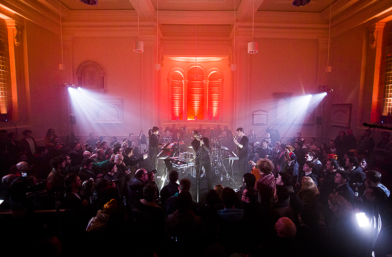
<path fill-rule="evenodd" d="M 201 168 L 204 167 L 207 176 L 207 189 L 208 191 L 212 189 L 211 181 L 211 161 L 208 153 L 210 152 L 210 142 L 208 138 L 203 138 L 200 136 L 198 131 L 193 132 L 194 140 L 192 141 L 192 148 L 196 152 L 197 158 L 197 169 L 200 173 Z M 199 175 L 198 173 L 198 175 Z"/>

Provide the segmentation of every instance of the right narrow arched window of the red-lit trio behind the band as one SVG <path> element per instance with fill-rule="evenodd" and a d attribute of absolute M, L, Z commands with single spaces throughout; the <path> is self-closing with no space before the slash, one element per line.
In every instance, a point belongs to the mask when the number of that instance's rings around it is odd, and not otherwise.
<path fill-rule="evenodd" d="M 208 120 L 219 120 L 221 84 L 219 72 L 213 70 L 208 76 Z"/>

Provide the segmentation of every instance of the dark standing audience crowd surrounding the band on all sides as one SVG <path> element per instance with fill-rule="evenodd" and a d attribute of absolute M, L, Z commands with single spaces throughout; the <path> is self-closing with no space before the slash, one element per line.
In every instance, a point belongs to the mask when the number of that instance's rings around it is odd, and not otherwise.
<path fill-rule="evenodd" d="M 228 126 L 198 131 L 235 151 Z M 197 203 L 176 170 L 158 189 L 143 131 L 64 144 L 50 128 L 38 146 L 30 130 L 19 141 L 0 130 L 0 253 L 390 256 L 392 142 L 371 134 L 305 143 L 301 133 L 280 138 L 275 126 L 264 137 L 251 130 L 243 185 L 216 185 Z M 158 135 L 180 152 L 192 141 L 176 124 Z"/>

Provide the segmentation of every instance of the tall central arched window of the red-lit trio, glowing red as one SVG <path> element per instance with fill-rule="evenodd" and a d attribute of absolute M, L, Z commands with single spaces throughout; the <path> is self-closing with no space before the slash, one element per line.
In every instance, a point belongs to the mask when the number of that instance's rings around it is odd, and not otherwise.
<path fill-rule="evenodd" d="M 188 120 L 204 119 L 204 72 L 199 66 L 188 70 Z"/>

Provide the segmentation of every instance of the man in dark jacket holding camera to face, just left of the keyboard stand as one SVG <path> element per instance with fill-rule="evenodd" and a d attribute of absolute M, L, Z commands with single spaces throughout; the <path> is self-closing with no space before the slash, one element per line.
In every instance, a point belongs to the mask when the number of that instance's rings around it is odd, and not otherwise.
<path fill-rule="evenodd" d="M 148 172 L 144 169 L 139 169 L 135 172 L 135 176 L 128 181 L 128 198 L 126 204 L 132 208 L 136 201 L 143 198 L 143 187 L 151 181 L 154 182 L 154 172 Z"/>

